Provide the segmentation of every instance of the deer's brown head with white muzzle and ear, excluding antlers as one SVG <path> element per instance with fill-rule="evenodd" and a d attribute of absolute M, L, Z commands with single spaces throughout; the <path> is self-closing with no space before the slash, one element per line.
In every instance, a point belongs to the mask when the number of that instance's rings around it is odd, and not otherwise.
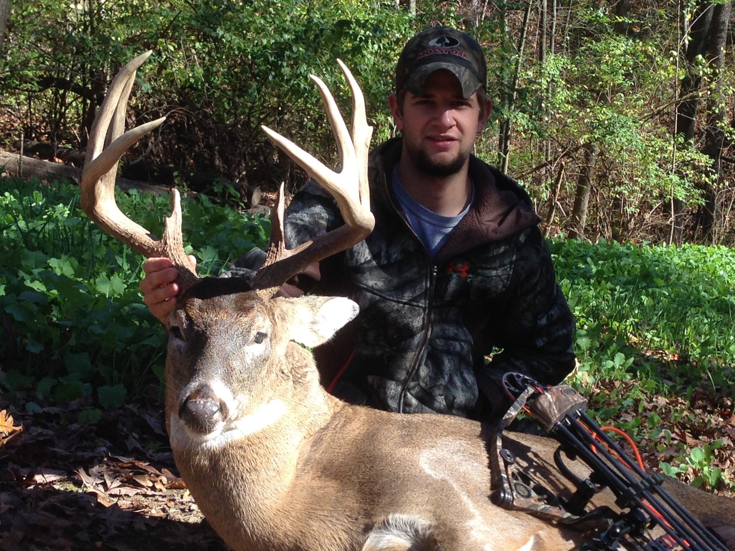
<path fill-rule="evenodd" d="M 318 375 L 308 351 L 358 308 L 347 298 L 263 299 L 237 278 L 191 287 L 168 319 L 171 443 L 218 447 L 260 431 L 309 400 Z M 182 433 L 181 431 L 184 431 Z"/>

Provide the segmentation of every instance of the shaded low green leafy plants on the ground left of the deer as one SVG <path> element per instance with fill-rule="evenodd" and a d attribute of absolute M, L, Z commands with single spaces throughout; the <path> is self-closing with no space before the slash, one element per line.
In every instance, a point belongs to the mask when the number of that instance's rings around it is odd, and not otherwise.
<path fill-rule="evenodd" d="M 119 193 L 123 212 L 154 234 L 168 197 Z M 264 246 L 270 226 L 206 197 L 184 199 L 187 252 L 200 275 Z M 140 297 L 143 258 L 101 231 L 79 209 L 79 188 L 0 179 L 0 356 L 12 392 L 35 388 L 39 400 L 93 394 L 100 406 L 156 386 L 166 338 Z"/>

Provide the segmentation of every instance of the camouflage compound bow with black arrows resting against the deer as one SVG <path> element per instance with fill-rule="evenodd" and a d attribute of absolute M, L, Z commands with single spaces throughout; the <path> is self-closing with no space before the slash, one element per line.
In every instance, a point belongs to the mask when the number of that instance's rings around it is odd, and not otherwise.
<path fill-rule="evenodd" d="M 587 401 L 571 386 L 541 386 L 526 375 L 507 373 L 503 387 L 514 403 L 490 441 L 495 505 L 594 530 L 592 544 L 583 547 L 589 551 L 616 550 L 623 539 L 628 548 L 645 551 L 727 551 L 717 536 L 661 488 L 663 475 L 645 472 L 587 416 Z M 521 468 L 514 454 L 503 449 L 503 429 L 522 410 L 559 441 L 554 462 L 575 488 L 570 496 L 560 497 L 546 489 L 532 469 Z M 570 461 L 584 461 L 589 475 L 575 475 L 562 453 Z M 606 506 L 588 510 L 590 500 L 604 488 L 613 492 L 621 512 Z M 664 535 L 653 539 L 647 530 L 656 525 Z"/>

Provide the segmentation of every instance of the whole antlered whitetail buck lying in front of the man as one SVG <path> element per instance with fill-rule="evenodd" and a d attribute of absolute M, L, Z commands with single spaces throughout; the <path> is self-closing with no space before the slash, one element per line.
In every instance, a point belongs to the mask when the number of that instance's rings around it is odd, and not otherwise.
<path fill-rule="evenodd" d="M 287 251 L 279 203 L 267 260 L 248 284 L 196 278 L 182 249 L 176 191 L 162 240 L 115 205 L 119 157 L 162 122 L 121 135 L 135 71 L 148 54 L 126 65 L 110 85 L 90 134 L 82 206 L 135 251 L 168 256 L 179 269 L 182 295 L 166 324 L 166 421 L 176 465 L 212 527 L 234 550 L 580 548 L 580 533 L 490 502 L 486 426 L 351 406 L 325 392 L 312 354 L 297 343 L 325 342 L 356 316 L 355 303 L 272 298 L 290 275 L 359 242 L 373 226 L 366 170 L 372 129 L 348 69 L 340 62 L 353 94 L 351 136 L 329 90 L 312 77 L 337 138 L 340 173 L 265 129 L 335 196 L 345 226 Z M 503 446 L 533 464 L 549 488 L 563 492 L 569 486 L 553 467 L 557 442 L 523 434 L 505 439 Z M 735 545 L 731 501 L 667 486 L 695 514 L 711 515 Z"/>

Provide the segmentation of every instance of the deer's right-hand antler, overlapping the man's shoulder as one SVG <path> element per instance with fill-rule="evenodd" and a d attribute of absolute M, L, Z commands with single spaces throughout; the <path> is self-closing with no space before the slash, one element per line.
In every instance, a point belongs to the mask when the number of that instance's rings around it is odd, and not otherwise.
<path fill-rule="evenodd" d="M 368 187 L 368 148 L 373 128 L 368 126 L 365 118 L 365 98 L 347 66 L 337 60 L 340 69 L 352 91 L 352 134 L 347 131 L 345 121 L 340 115 L 334 98 L 318 77 L 309 78 L 315 82 L 326 108 L 327 118 L 334 137 L 337 140 L 337 151 L 340 154 L 342 170 L 337 173 L 326 168 L 311 154 L 273 132 L 267 126 L 261 126 L 270 140 L 282 148 L 301 168 L 304 168 L 313 179 L 334 195 L 340 208 L 345 225 L 329 231 L 314 241 L 307 241 L 298 247 L 287 250 L 283 236 L 283 185 L 279 190 L 276 209 L 270 223 L 271 235 L 268 253 L 261 269 L 254 279 L 256 289 L 264 289 L 263 295 L 275 292 L 284 281 L 292 275 L 304 270 L 313 262 L 318 262 L 334 253 L 344 251 L 352 245 L 368 237 L 375 226 L 375 218 L 370 212 L 370 189 Z"/>

